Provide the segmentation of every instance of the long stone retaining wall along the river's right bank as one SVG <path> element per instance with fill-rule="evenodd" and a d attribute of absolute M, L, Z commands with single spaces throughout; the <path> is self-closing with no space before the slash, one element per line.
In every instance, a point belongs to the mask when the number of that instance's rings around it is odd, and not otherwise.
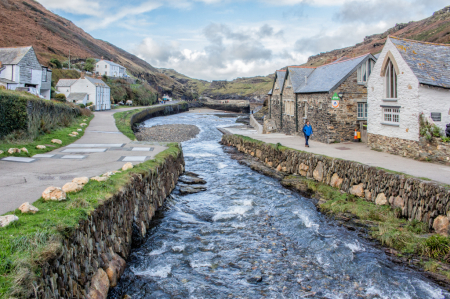
<path fill-rule="evenodd" d="M 448 221 L 450 189 L 433 182 L 386 172 L 357 162 L 334 159 L 296 150 L 279 150 L 275 145 L 237 135 L 224 135 L 222 144 L 251 154 L 267 166 L 299 174 L 379 205 L 398 209 L 407 219 L 425 222 L 430 228 L 440 217 Z"/>

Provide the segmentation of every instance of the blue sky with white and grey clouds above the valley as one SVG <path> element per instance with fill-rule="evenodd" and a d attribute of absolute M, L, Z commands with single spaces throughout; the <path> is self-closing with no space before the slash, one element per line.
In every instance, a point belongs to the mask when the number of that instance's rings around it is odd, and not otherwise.
<path fill-rule="evenodd" d="M 205 80 L 267 75 L 448 5 L 448 0 L 38 2 L 155 67 Z"/>

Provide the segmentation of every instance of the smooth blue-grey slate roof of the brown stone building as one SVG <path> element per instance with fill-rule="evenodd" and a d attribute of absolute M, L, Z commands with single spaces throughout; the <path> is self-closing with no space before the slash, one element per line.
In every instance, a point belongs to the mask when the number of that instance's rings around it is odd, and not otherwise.
<path fill-rule="evenodd" d="M 371 54 L 365 54 L 319 66 L 308 76 L 307 84 L 301 85 L 294 91 L 295 93 L 330 92 L 356 71 L 359 64 L 369 57 L 374 58 Z"/>

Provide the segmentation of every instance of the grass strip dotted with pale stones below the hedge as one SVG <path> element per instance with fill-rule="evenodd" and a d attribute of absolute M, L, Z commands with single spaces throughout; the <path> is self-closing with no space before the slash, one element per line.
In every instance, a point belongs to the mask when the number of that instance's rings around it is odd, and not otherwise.
<path fill-rule="evenodd" d="M 49 151 L 55 150 L 57 148 L 66 146 L 79 138 L 81 138 L 84 135 L 84 131 L 86 130 L 87 126 L 81 127 L 81 123 L 86 123 L 89 125 L 90 121 L 92 120 L 94 116 L 80 116 L 76 118 L 76 120 L 69 126 L 65 128 L 60 128 L 57 130 L 54 130 L 50 132 L 49 134 L 40 135 L 35 140 L 17 140 L 17 141 L 5 141 L 0 140 L 0 150 L 4 153 L 0 155 L 0 159 L 8 156 L 15 156 L 15 157 L 31 157 L 36 154 L 44 154 Z M 84 120 L 87 121 L 84 121 Z M 83 131 L 78 132 L 77 129 L 83 129 Z M 70 137 L 69 134 L 72 132 L 77 132 L 78 135 L 76 137 Z M 51 143 L 52 139 L 60 139 L 62 141 L 62 144 L 56 144 Z M 36 149 L 37 145 L 45 145 L 46 148 L 39 150 Z M 23 148 L 25 147 L 28 150 L 28 154 L 25 152 L 21 152 L 19 154 L 8 154 L 8 149 L 10 148 Z"/>

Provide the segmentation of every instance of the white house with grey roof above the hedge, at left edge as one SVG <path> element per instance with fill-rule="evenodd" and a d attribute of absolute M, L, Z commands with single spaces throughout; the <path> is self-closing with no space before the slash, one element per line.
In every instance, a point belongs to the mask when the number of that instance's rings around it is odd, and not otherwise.
<path fill-rule="evenodd" d="M 51 82 L 52 71 L 39 63 L 33 47 L 0 48 L 0 85 L 35 88 L 49 100 Z"/>

